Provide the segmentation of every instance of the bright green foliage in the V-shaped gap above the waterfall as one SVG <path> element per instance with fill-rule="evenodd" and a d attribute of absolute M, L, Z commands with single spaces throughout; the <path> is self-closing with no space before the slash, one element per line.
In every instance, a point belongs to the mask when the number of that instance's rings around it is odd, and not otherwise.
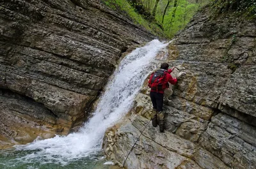
<path fill-rule="evenodd" d="M 193 15 L 198 11 L 200 6 L 207 4 L 210 0 L 177 0 L 177 8 L 173 6 L 175 0 L 160 0 L 157 5 L 156 17 L 148 16 L 152 14 L 156 0 L 137 0 L 136 5 L 132 4 L 133 0 L 102 0 L 113 10 L 120 9 L 134 20 L 136 24 L 146 27 L 148 31 L 166 38 L 173 38 L 174 34 L 183 29 Z M 129 3 L 129 2 L 130 3 Z M 139 15 L 138 1 L 143 4 L 143 11 L 146 15 Z M 170 4 L 166 8 L 166 4 Z M 163 20 L 164 9 L 166 13 Z M 175 15 L 173 15 L 175 13 Z"/>

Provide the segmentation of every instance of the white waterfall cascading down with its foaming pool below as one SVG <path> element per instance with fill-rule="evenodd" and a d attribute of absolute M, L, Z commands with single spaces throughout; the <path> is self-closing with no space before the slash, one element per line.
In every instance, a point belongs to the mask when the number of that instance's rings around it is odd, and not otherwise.
<path fill-rule="evenodd" d="M 36 163 L 68 165 L 93 154 L 99 154 L 104 132 L 124 117 L 132 107 L 136 94 L 147 78 L 148 70 L 152 70 L 152 66 L 156 66 L 153 62 L 154 57 L 159 50 L 167 45 L 168 43 L 164 44 L 153 40 L 145 47 L 137 48 L 127 55 L 120 62 L 111 82 L 106 86 L 106 92 L 101 96 L 93 117 L 84 124 L 79 132 L 37 140 L 28 145 L 17 145 L 15 151 L 11 153 L 13 159 L 0 156 L 0 168 L 23 166 L 24 163 L 30 164 L 24 165 L 27 168 L 30 166 L 36 168 Z M 6 157 L 8 156 L 6 154 L 10 152 L 1 153 Z"/>

